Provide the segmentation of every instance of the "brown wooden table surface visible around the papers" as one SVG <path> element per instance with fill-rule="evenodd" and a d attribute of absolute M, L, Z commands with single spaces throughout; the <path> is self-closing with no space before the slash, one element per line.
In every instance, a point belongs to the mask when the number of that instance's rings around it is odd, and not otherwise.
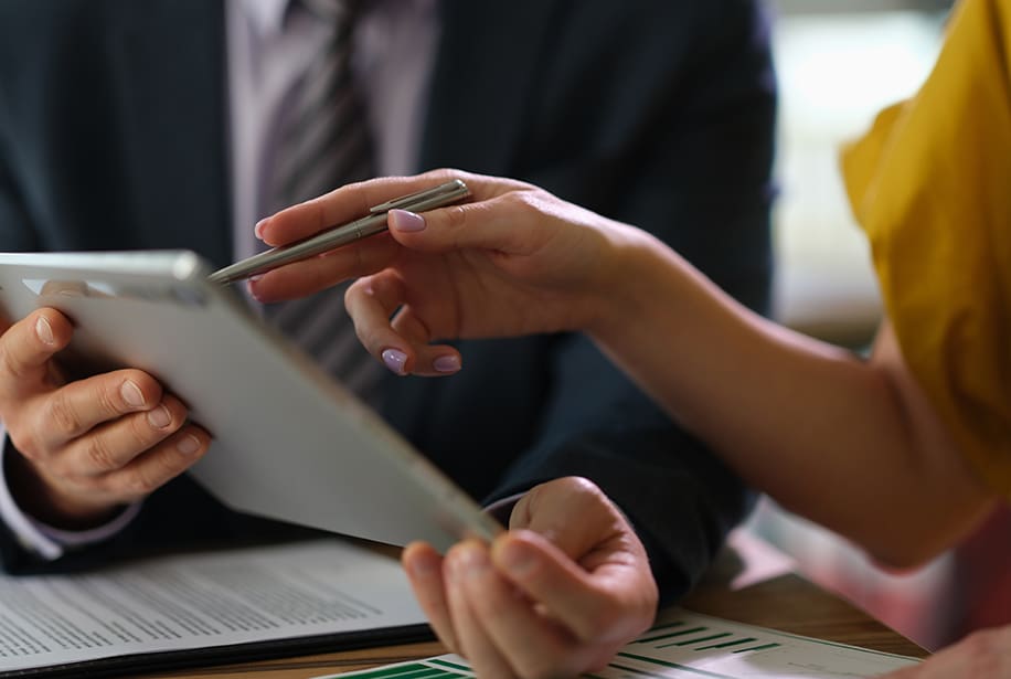
<path fill-rule="evenodd" d="M 917 658 L 928 655 L 855 606 L 796 573 L 786 572 L 781 560 L 771 571 L 768 560 L 765 566 L 758 563 L 773 552 L 775 550 L 753 538 L 741 533 L 733 535 L 703 582 L 680 605 L 696 613 L 791 634 Z M 143 679 L 308 679 L 444 653 L 446 650 L 438 643 L 429 641 L 148 675 Z"/>

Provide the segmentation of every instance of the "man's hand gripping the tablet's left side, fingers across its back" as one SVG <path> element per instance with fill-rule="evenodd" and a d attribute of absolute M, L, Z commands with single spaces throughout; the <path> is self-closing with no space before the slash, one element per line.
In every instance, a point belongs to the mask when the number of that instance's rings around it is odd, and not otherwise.
<path fill-rule="evenodd" d="M 72 336 L 67 318 L 49 308 L 6 329 L 0 418 L 17 448 L 6 455 L 6 474 L 19 506 L 54 527 L 82 529 L 185 470 L 210 436 L 140 370 L 64 383 L 54 354 Z"/>

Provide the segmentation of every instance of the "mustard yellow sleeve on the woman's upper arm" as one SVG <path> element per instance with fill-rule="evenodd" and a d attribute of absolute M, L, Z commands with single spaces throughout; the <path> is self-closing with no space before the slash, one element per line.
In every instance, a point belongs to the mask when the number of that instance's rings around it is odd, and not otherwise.
<path fill-rule="evenodd" d="M 1011 0 L 965 0 L 915 98 L 843 151 L 903 354 L 1011 498 Z"/>

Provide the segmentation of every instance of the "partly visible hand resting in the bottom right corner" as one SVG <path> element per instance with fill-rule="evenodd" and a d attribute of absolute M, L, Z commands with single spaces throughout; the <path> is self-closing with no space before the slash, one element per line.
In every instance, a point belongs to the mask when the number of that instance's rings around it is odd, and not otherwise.
<path fill-rule="evenodd" d="M 907 667 L 882 679 L 1003 679 L 1011 677 L 1011 625 L 975 632 L 922 665 Z"/>

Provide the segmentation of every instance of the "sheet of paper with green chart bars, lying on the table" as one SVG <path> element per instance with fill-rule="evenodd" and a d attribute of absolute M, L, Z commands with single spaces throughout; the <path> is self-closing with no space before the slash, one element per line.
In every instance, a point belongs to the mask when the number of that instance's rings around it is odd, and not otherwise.
<path fill-rule="evenodd" d="M 599 679 L 838 679 L 874 677 L 915 658 L 820 641 L 683 609 L 661 615 L 652 629 L 626 646 Z M 447 655 L 340 675 L 341 679 L 459 679 L 473 677 L 467 661 Z M 331 679 L 334 675 L 328 675 Z"/>

